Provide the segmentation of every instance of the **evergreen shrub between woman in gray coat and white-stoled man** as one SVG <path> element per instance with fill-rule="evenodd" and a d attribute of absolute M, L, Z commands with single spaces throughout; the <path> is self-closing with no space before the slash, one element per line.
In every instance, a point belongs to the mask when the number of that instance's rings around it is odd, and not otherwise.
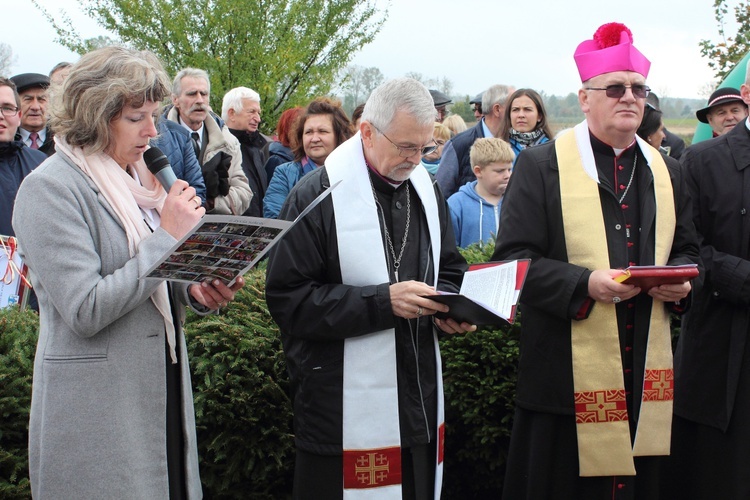
<path fill-rule="evenodd" d="M 265 269 L 245 280 L 220 315 L 190 314 L 185 326 L 201 480 L 207 498 L 283 499 L 294 470 L 289 377 Z"/>

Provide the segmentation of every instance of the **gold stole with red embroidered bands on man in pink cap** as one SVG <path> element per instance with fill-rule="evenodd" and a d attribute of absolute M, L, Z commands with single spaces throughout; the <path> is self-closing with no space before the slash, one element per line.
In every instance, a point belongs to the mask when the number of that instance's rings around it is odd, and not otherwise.
<path fill-rule="evenodd" d="M 661 156 L 638 141 L 654 177 L 655 264 L 666 265 L 676 224 L 672 184 Z M 596 165 L 586 122 L 555 143 L 568 261 L 610 269 Z M 614 304 L 596 303 L 589 317 L 571 322 L 578 459 L 581 476 L 635 475 L 633 456 L 668 455 L 674 373 L 669 316 L 651 308 L 641 409 L 635 444 L 630 429 Z"/>

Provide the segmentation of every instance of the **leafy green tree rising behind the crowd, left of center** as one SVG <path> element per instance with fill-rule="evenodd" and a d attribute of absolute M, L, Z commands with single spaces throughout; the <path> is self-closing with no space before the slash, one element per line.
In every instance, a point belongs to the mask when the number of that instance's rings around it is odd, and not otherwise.
<path fill-rule="evenodd" d="M 63 46 L 80 54 L 96 46 L 67 15 L 53 16 L 32 1 Z M 388 14 L 375 0 L 81 0 L 80 5 L 117 43 L 154 52 L 171 75 L 188 66 L 208 71 L 216 110 L 228 90 L 256 90 L 266 131 L 285 109 L 329 94 Z"/>

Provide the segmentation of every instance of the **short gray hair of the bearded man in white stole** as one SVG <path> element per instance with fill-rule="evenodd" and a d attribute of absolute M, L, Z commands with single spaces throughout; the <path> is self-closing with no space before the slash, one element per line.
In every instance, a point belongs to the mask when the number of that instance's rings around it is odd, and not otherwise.
<path fill-rule="evenodd" d="M 411 115 L 419 125 L 435 123 L 435 103 L 427 87 L 413 78 L 390 80 L 372 91 L 362 112 L 362 121 L 387 132 L 398 111 Z"/>

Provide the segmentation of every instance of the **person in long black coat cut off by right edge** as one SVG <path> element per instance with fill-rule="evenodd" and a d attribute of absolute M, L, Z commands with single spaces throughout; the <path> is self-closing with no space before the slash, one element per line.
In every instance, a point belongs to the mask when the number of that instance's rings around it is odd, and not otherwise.
<path fill-rule="evenodd" d="M 750 73 L 741 87 L 750 103 Z M 668 498 L 750 498 L 750 122 L 689 147 L 703 287 L 675 353 Z"/>

